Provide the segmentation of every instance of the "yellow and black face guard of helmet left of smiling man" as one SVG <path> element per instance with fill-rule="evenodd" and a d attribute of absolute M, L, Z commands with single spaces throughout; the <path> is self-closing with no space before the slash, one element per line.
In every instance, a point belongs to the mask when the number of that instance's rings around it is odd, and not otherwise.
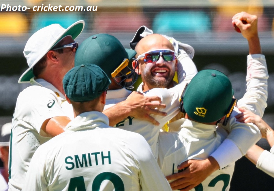
<path fill-rule="evenodd" d="M 134 68 L 131 68 L 129 64 L 128 58 L 125 58 L 123 62 L 111 73 L 111 77 L 114 81 L 120 85 L 121 87 L 132 89 L 133 84 L 136 82 L 138 78 L 138 73 L 136 73 L 135 69 L 139 65 L 139 62 L 135 60 Z"/>

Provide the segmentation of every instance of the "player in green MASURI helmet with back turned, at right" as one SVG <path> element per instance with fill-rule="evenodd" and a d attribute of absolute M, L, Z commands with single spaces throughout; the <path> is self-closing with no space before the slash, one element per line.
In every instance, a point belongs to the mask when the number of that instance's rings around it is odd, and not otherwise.
<path fill-rule="evenodd" d="M 217 122 L 232 112 L 232 96 L 232 85 L 222 72 L 202 70 L 193 77 L 181 96 L 185 119 L 176 121 L 181 122 L 179 132 L 159 134 L 158 164 L 164 175 L 177 173 L 183 161 L 208 158 L 220 146 L 227 133 L 217 131 Z M 193 190 L 229 190 L 233 171 L 234 163 L 213 172 Z"/>

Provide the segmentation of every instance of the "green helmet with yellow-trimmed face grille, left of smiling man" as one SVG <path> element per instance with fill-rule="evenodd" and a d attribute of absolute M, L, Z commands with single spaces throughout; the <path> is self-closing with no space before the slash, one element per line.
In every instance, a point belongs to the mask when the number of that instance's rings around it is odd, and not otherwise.
<path fill-rule="evenodd" d="M 125 88 L 132 88 L 138 78 L 135 72 L 138 62 L 132 68 L 136 51 L 124 48 L 112 35 L 96 34 L 85 39 L 75 54 L 75 66 L 95 64 L 102 68 L 109 78 Z"/>

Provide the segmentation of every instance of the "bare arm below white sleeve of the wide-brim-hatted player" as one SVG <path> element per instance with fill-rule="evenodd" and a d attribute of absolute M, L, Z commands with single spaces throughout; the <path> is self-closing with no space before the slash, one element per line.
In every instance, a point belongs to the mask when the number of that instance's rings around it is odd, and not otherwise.
<path fill-rule="evenodd" d="M 67 116 L 52 117 L 44 121 L 41 129 L 50 137 L 54 137 L 60 133 L 63 133 L 64 128 L 70 121 L 70 118 Z"/>

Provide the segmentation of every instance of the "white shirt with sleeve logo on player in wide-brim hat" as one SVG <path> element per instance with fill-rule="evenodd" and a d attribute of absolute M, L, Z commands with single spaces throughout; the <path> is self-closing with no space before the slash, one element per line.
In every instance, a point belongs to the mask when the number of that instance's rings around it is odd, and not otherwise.
<path fill-rule="evenodd" d="M 43 79 L 31 79 L 34 84 L 20 92 L 12 119 L 10 139 L 10 190 L 21 190 L 31 158 L 36 149 L 50 140 L 40 128 L 42 123 L 55 116 L 71 116 L 61 104 L 65 97 Z"/>

